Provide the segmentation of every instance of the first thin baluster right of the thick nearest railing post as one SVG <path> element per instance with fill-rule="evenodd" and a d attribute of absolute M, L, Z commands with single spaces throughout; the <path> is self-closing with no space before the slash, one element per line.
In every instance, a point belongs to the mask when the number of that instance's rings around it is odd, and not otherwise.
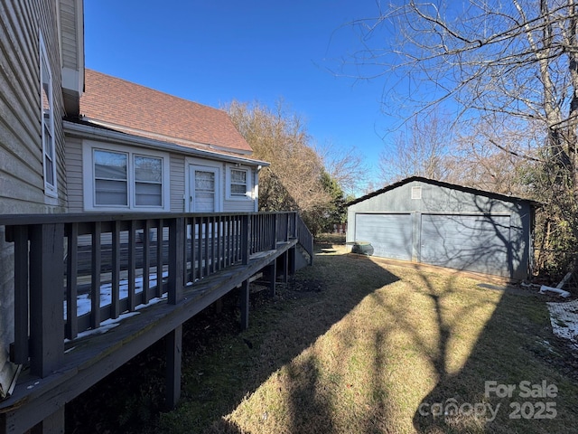
<path fill-rule="evenodd" d="M 74 339 L 79 334 L 78 275 L 79 275 L 79 223 L 68 225 L 68 251 L 66 260 L 66 337 Z"/>

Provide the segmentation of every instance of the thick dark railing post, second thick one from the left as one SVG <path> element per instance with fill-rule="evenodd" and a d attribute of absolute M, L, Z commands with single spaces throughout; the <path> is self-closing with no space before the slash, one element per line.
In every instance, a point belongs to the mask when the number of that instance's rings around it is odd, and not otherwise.
<path fill-rule="evenodd" d="M 184 217 L 172 219 L 169 224 L 169 290 L 168 302 L 176 305 L 182 299 L 185 258 Z"/>

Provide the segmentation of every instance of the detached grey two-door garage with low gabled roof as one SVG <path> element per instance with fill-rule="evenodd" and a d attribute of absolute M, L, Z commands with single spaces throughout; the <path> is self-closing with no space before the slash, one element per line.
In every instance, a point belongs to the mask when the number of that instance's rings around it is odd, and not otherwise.
<path fill-rule="evenodd" d="M 536 203 L 414 176 L 350 203 L 347 241 L 373 255 L 506 278 L 530 273 Z"/>

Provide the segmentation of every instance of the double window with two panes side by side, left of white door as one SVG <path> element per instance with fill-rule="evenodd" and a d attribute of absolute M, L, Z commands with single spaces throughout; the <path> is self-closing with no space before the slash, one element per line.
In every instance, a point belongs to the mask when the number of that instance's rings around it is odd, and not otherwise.
<path fill-rule="evenodd" d="M 143 155 L 128 146 L 104 149 L 85 142 L 85 174 L 90 174 L 85 176 L 85 209 L 169 211 L 169 158 L 149 152 Z"/>

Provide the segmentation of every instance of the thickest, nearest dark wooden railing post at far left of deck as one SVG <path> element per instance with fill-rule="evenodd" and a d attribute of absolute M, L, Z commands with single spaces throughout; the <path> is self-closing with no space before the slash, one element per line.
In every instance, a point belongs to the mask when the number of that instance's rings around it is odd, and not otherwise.
<path fill-rule="evenodd" d="M 64 223 L 38 224 L 30 238 L 30 322 L 33 375 L 47 377 L 64 356 Z"/>

